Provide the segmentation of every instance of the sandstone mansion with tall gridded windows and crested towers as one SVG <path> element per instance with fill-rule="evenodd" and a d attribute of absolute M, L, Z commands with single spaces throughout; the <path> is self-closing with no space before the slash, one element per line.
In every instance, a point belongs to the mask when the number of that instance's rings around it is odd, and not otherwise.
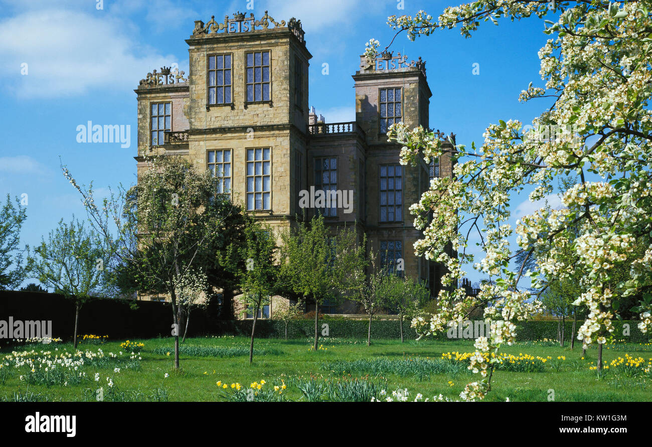
<path fill-rule="evenodd" d="M 402 166 L 401 146 L 386 136 L 398 121 L 430 127 L 426 63 L 391 53 L 361 56 L 353 74 L 355 121 L 329 123 L 309 107 L 312 55 L 301 21 L 276 22 L 267 12 L 259 20 L 243 13 L 221 23 L 213 17 L 196 21 L 186 43 L 187 77 L 163 67 L 135 90 L 138 174 L 147 169 L 143 154 L 187 157 L 221 178 L 218 193 L 231 194 L 273 228 L 292 226 L 306 211 L 306 191 L 340 191 L 338 203 L 308 208 L 308 217 L 322 213 L 333 227 L 357 223 L 381 262 L 402 259 L 406 275 L 427 283 L 436 296 L 444 271 L 415 256 L 421 232 L 409 206 L 432 177 L 452 175 L 452 162 L 441 157 L 430 166 Z M 261 316 L 273 316 L 283 300 L 274 297 Z M 357 309 L 344 303 L 321 311 Z"/>

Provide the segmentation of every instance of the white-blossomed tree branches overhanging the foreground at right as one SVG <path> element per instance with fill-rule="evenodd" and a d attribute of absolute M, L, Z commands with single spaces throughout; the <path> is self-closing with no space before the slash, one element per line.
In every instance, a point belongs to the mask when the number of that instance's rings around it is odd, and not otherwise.
<path fill-rule="evenodd" d="M 443 147 L 426 129 L 408 129 L 402 123 L 388 132 L 389 140 L 402 144 L 404 164 L 443 155 L 457 161 L 452 176 L 433 179 L 430 190 L 411 207 L 415 226 L 424 231 L 415 243 L 416 253 L 447 266 L 444 285 L 464 277 L 469 264 L 492 280 L 481 286 L 477 297 L 465 296 L 464 290 L 443 290 L 437 314 L 429 321 L 413 321 L 427 334 L 444 330 L 449 320 L 464 320 L 475 307 L 485 307 L 485 318 L 493 321 L 491 335 L 477 339 L 469 365 L 482 379 L 467 385 L 463 399 L 482 399 L 490 390 L 490 352 L 513 343 L 515 323 L 540 309 L 539 301 L 531 300 L 537 297 L 520 288 L 524 277 L 539 287 L 562 281 L 572 271 L 581 274 L 582 294 L 574 304 L 587 309 L 578 331 L 584 346 L 597 342 L 600 349 L 607 341 L 621 297 L 643 292 L 638 327 L 646 332 L 652 326 L 652 295 L 647 292 L 652 286 L 651 7 L 650 0 L 477 0 L 445 8 L 437 19 L 423 11 L 388 19 L 397 33 L 406 31 L 415 39 L 456 26 L 470 37 L 481 21 L 555 14 L 555 20 L 546 20 L 544 31 L 551 39 L 539 51 L 544 84 L 529 84 L 519 98 L 549 98 L 531 125 L 499 120 L 486 128 L 482 146 L 472 144 L 470 149 Z M 375 48 L 368 46 L 366 53 L 373 55 Z M 571 172 L 579 181 L 563 194 L 564 209 L 539 209 L 512 228 L 511 194 L 531 187 L 529 199 L 539 200 L 552 193 L 557 176 Z M 579 236 L 572 239 L 574 228 Z M 471 231 L 481 239 L 479 259 L 466 250 Z M 524 263 L 510 268 L 514 251 L 509 238 L 514 232 L 520 249 L 527 251 L 526 259 L 537 259 L 539 272 L 524 269 Z M 635 239 L 646 249 L 632 260 L 629 277 L 615 281 L 612 272 L 626 262 Z M 447 255 L 447 243 L 459 256 Z M 571 259 L 563 256 L 566 247 L 574 252 Z M 537 293 L 544 290 L 541 286 Z"/>

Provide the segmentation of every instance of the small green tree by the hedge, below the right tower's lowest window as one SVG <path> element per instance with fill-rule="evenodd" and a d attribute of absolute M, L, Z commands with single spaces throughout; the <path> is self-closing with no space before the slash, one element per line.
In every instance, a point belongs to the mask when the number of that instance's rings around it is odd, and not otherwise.
<path fill-rule="evenodd" d="M 385 295 L 389 309 L 398 313 L 398 325 L 400 327 L 401 343 L 403 343 L 404 317 L 415 313 L 417 309 L 420 309 L 422 305 L 428 302 L 430 290 L 418 279 L 391 273 L 383 282 L 381 293 Z"/>

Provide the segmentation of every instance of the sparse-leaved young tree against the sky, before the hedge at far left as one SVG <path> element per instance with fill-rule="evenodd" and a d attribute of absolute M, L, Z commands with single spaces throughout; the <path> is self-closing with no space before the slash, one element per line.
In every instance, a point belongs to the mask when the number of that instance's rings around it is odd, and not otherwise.
<path fill-rule="evenodd" d="M 61 219 L 48 241 L 42 239 L 33 253 L 28 247 L 27 263 L 38 281 L 75 305 L 74 348 L 77 348 L 80 309 L 90 298 L 101 294 L 106 260 L 102 239 L 74 217 L 70 224 Z"/>

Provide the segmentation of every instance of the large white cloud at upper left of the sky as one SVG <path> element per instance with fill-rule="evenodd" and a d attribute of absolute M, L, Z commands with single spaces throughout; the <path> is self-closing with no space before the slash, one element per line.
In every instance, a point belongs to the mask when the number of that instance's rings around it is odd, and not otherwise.
<path fill-rule="evenodd" d="M 128 29 L 133 29 L 130 23 L 104 12 L 31 9 L 5 18 L 0 21 L 5 87 L 28 98 L 124 90 L 138 87 L 154 68 L 177 62 L 136 44 L 140 40 L 125 35 Z M 23 63 L 27 75 L 21 74 Z"/>

